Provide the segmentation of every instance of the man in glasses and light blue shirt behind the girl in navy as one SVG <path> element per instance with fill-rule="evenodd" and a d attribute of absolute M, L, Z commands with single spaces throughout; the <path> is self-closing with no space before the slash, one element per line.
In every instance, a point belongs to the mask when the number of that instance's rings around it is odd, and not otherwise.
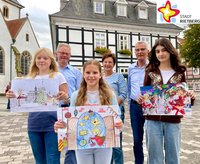
<path fill-rule="evenodd" d="M 66 43 L 59 43 L 57 51 L 55 52 L 59 71 L 64 75 L 67 85 L 69 97 L 76 91 L 81 83 L 82 74 L 77 68 L 69 65 L 71 57 L 71 47 Z M 68 106 L 69 104 L 62 104 L 61 106 Z M 76 164 L 76 156 L 74 150 L 68 150 L 65 154 L 64 164 Z"/>

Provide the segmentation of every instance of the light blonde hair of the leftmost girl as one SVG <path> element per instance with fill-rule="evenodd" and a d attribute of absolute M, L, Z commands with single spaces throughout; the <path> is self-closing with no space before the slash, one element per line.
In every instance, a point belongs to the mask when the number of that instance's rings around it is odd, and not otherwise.
<path fill-rule="evenodd" d="M 58 67 L 57 67 L 57 64 L 56 64 L 56 61 L 55 61 L 55 57 L 54 57 L 52 51 L 50 49 L 48 49 L 48 48 L 39 48 L 39 49 L 37 49 L 37 51 L 35 52 L 35 55 L 34 55 L 34 59 L 32 60 L 28 76 L 31 77 L 31 78 L 35 78 L 35 76 L 38 74 L 39 69 L 36 66 L 36 57 L 41 52 L 44 52 L 51 59 L 51 65 L 49 67 L 49 69 L 50 69 L 49 78 L 53 78 L 55 73 L 58 72 Z"/>

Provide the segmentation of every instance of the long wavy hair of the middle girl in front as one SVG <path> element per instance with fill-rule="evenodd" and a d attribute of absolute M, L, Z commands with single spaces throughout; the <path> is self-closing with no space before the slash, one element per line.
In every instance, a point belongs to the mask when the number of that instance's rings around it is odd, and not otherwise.
<path fill-rule="evenodd" d="M 83 73 L 88 65 L 96 65 L 99 68 L 100 74 L 102 75 L 101 64 L 96 60 L 88 60 L 83 65 Z M 87 101 L 86 93 L 87 93 L 87 83 L 83 77 L 75 103 L 76 106 L 83 106 L 86 103 Z M 99 98 L 101 105 L 111 105 L 112 97 L 113 97 L 112 90 L 105 83 L 105 81 L 101 76 L 101 78 L 99 79 Z"/>

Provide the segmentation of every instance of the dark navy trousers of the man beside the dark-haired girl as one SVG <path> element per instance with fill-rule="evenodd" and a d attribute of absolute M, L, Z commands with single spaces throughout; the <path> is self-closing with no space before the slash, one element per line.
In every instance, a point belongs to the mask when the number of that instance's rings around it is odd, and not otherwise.
<path fill-rule="evenodd" d="M 135 164 L 143 164 L 144 117 L 142 113 L 142 107 L 133 100 L 131 100 L 130 104 L 130 119 L 133 131 L 133 153 L 135 156 Z"/>

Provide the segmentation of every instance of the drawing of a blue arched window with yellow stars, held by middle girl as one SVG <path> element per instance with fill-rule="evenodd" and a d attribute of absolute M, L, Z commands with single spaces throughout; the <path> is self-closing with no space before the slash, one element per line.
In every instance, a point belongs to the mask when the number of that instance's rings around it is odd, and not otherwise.
<path fill-rule="evenodd" d="M 119 106 L 64 107 L 57 111 L 65 128 L 58 129 L 58 149 L 76 150 L 120 146 Z"/>

